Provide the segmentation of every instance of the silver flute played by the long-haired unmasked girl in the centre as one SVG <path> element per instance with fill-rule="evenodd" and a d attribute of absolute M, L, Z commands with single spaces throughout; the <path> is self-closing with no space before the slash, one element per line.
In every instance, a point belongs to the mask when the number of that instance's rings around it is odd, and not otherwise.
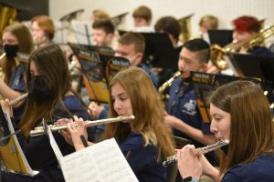
<path fill-rule="evenodd" d="M 100 120 L 94 120 L 94 121 L 86 121 L 87 126 L 100 126 L 110 123 L 116 123 L 121 121 L 127 121 L 135 119 L 135 116 L 118 116 L 114 118 L 108 118 L 108 119 L 100 119 Z M 63 129 L 67 129 L 67 125 L 49 125 L 47 126 L 48 129 L 51 131 L 60 131 Z M 30 131 L 30 136 L 41 136 L 45 134 L 45 128 L 43 126 L 37 126 L 34 130 Z"/>

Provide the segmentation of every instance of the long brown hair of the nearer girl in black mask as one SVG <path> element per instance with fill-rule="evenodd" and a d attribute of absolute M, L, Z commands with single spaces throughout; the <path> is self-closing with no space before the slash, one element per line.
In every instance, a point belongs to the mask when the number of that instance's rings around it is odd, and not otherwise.
<path fill-rule="evenodd" d="M 68 63 L 58 45 L 47 45 L 39 48 L 29 57 L 26 85 L 28 85 L 31 77 L 30 62 L 34 62 L 39 74 L 45 76 L 49 89 L 53 94 L 53 99 L 42 104 L 26 101 L 26 110 L 20 123 L 24 136 L 28 136 L 29 131 L 41 117 L 44 117 L 47 121 L 54 116 L 55 107 L 62 103 L 62 98 L 71 87 Z"/>

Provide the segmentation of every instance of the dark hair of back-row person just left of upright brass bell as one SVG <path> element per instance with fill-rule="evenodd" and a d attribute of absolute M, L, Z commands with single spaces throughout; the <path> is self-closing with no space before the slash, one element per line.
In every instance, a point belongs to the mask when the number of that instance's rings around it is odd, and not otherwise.
<path fill-rule="evenodd" d="M 164 16 L 160 18 L 154 25 L 155 31 L 163 31 L 167 34 L 174 36 L 174 39 L 178 40 L 181 33 L 181 27 L 178 20 L 174 16 Z"/>

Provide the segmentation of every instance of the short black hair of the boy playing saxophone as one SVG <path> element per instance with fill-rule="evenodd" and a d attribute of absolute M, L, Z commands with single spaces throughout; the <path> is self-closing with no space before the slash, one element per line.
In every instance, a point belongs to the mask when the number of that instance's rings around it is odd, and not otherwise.
<path fill-rule="evenodd" d="M 205 40 L 201 38 L 195 38 L 184 43 L 184 48 L 190 50 L 191 52 L 198 53 L 200 62 L 207 63 L 210 58 L 210 45 L 208 45 Z"/>

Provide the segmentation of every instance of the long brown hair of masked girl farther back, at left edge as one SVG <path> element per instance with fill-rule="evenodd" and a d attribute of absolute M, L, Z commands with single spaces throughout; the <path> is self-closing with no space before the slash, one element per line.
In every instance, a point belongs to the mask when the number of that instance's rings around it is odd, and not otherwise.
<path fill-rule="evenodd" d="M 34 50 L 34 44 L 32 35 L 24 24 L 13 24 L 5 27 L 3 34 L 9 32 L 12 35 L 15 35 L 18 40 L 19 53 L 25 53 L 29 55 Z M 16 67 L 15 59 L 7 59 L 3 60 L 3 73 L 5 75 L 4 81 L 5 84 L 8 84 L 12 70 Z"/>

